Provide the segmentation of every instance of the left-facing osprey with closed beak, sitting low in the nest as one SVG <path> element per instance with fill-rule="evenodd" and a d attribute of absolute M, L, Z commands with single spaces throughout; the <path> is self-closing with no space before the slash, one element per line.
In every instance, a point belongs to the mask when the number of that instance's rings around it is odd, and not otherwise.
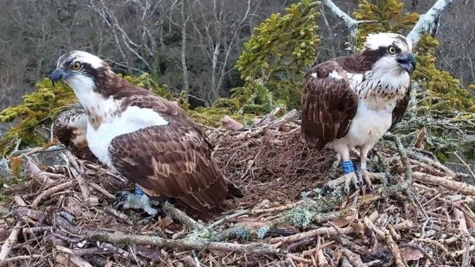
<path fill-rule="evenodd" d="M 131 85 L 105 61 L 82 51 L 59 57 L 51 80 L 59 79 L 85 109 L 92 154 L 136 184 L 135 194 L 125 192 L 120 206 L 154 216 L 148 196 L 204 210 L 240 195 L 211 157 L 213 146 L 201 128 L 174 103 Z"/>

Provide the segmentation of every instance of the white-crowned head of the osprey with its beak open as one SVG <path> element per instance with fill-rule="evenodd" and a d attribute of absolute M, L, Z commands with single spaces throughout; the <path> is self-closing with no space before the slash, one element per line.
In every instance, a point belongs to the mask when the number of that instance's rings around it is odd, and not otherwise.
<path fill-rule="evenodd" d="M 373 62 L 374 71 L 411 74 L 416 67 L 412 43 L 406 37 L 393 33 L 370 34 L 361 51 Z"/>

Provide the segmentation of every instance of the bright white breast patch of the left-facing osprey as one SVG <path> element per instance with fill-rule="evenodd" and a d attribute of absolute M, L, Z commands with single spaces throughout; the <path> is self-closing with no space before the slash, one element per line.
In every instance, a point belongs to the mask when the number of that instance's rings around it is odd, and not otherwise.
<path fill-rule="evenodd" d="M 110 117 L 106 114 L 97 128 L 88 125 L 87 140 L 92 153 L 102 163 L 114 169 L 109 157 L 109 146 L 115 137 L 159 125 L 168 125 L 168 121 L 158 112 L 150 108 L 129 106 L 123 112 Z"/>

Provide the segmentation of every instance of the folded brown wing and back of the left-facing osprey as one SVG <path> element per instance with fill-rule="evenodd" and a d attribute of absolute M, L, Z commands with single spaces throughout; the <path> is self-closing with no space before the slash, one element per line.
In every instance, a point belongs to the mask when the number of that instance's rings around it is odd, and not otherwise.
<path fill-rule="evenodd" d="M 168 122 L 115 137 L 109 147 L 112 165 L 148 196 L 182 200 L 203 210 L 240 193 L 212 159 L 212 146 L 199 127 L 175 104 L 157 96 L 132 96 L 124 105 L 150 108 Z M 228 193 L 229 190 L 229 193 Z"/>

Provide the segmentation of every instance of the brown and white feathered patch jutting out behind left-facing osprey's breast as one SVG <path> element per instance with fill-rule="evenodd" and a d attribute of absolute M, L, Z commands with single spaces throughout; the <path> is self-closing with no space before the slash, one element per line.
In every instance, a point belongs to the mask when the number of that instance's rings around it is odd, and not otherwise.
<path fill-rule="evenodd" d="M 79 159 L 99 163 L 86 140 L 88 118 L 79 104 L 69 105 L 53 123 L 53 135 Z"/>

